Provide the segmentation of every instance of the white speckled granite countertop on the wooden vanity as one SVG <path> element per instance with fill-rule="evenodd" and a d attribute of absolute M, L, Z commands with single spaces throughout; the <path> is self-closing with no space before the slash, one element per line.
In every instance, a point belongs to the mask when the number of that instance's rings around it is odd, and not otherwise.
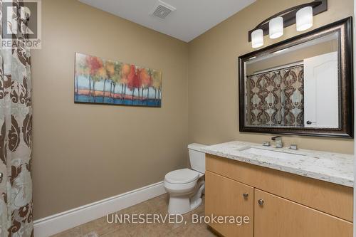
<path fill-rule="evenodd" d="M 297 155 L 290 158 L 268 157 L 263 154 L 249 153 L 246 149 L 250 147 Z M 354 184 L 353 156 L 351 154 L 320 152 L 308 149 L 293 150 L 288 148 L 263 147 L 262 144 L 238 141 L 201 147 L 201 151 L 219 157 L 235 159 L 239 162 L 256 164 L 261 167 L 320 179 L 334 184 L 350 187 Z"/>

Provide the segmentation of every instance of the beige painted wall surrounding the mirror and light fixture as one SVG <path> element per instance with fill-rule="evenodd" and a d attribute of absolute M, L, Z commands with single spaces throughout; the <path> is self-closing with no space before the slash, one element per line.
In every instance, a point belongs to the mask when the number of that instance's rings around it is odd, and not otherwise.
<path fill-rule="evenodd" d="M 263 142 L 271 135 L 239 132 L 237 58 L 253 51 L 248 30 L 258 23 L 308 0 L 257 0 L 189 43 L 189 142 L 214 144 L 231 140 Z M 329 0 L 329 9 L 314 17 L 313 28 L 353 15 L 352 0 Z M 283 37 L 265 46 L 295 36 L 295 25 L 286 28 Z M 296 143 L 305 149 L 353 152 L 352 139 L 283 137 L 286 144 Z"/>

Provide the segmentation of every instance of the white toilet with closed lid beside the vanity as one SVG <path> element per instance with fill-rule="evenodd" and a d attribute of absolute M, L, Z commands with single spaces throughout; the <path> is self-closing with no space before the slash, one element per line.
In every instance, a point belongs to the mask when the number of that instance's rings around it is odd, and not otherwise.
<path fill-rule="evenodd" d="M 189 144 L 189 161 L 192 169 L 177 169 L 164 177 L 164 188 L 169 193 L 168 214 L 185 214 L 201 204 L 204 191 L 205 153 L 204 144 Z"/>

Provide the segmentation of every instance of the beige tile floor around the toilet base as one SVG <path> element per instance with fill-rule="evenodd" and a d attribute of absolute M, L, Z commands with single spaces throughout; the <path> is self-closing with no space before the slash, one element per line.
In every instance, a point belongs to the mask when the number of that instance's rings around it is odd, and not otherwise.
<path fill-rule="evenodd" d="M 117 212 L 117 214 L 167 214 L 168 194 L 142 202 Z M 204 199 L 203 199 L 204 200 Z M 192 223 L 192 214 L 204 216 L 204 201 L 194 211 L 184 214 L 187 223 L 108 223 L 106 216 L 85 223 L 53 237 L 116 237 L 116 236 L 216 236 L 204 223 Z"/>

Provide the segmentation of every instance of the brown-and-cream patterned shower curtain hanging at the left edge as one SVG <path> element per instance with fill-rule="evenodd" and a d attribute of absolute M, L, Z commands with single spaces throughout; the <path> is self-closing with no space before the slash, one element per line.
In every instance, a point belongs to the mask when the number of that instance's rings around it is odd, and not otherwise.
<path fill-rule="evenodd" d="M 17 12 L 21 1 L 11 3 L 20 29 L 26 24 L 26 17 L 21 19 L 21 13 Z M 3 4 L 0 0 L 1 9 Z M 3 36 L 6 26 L 0 26 L 0 36 Z M 12 41 L 16 40 L 26 41 L 21 31 L 14 34 Z M 0 183 L 1 237 L 33 236 L 31 127 L 30 51 L 23 47 L 1 48 L 0 172 L 4 175 Z"/>

